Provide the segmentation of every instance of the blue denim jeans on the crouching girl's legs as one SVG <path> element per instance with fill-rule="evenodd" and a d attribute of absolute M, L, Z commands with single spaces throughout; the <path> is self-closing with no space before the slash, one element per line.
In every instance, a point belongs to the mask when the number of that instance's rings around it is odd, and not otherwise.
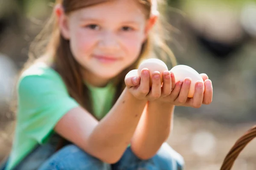
<path fill-rule="evenodd" d="M 54 139 L 54 138 L 52 138 Z M 52 142 L 53 141 L 53 142 Z M 85 153 L 74 144 L 68 144 L 55 152 L 56 141 L 40 145 L 30 153 L 15 170 L 182 170 L 183 158 L 167 143 L 148 160 L 138 159 L 131 148 L 125 150 L 116 164 L 107 164 Z M 55 143 L 54 143 L 55 142 Z M 110 155 L 111 156 L 111 155 Z M 0 168 L 0 170 L 2 170 Z M 4 170 L 4 168 L 3 168 Z"/>

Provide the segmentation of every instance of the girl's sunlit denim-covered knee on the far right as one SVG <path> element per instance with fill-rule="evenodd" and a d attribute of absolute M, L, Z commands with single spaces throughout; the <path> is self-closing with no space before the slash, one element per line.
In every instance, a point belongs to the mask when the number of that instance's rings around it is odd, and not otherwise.
<path fill-rule="evenodd" d="M 172 167 L 173 170 L 182 170 L 184 166 L 183 157 L 177 153 L 169 144 L 164 143 L 156 155 L 157 159 L 166 164 L 168 167 Z"/>

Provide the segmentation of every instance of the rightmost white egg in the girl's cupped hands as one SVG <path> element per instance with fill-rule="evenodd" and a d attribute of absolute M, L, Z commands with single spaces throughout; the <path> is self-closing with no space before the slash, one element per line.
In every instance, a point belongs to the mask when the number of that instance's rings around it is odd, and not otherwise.
<path fill-rule="evenodd" d="M 189 98 L 192 98 L 195 93 L 195 83 L 198 81 L 204 82 L 201 75 L 195 71 L 193 68 L 187 66 L 187 65 L 176 65 L 171 69 L 173 74 L 175 75 L 175 81 L 184 81 L 185 78 L 190 77 L 191 78 L 191 85 L 189 89 Z M 203 86 L 204 87 L 204 86 Z"/>

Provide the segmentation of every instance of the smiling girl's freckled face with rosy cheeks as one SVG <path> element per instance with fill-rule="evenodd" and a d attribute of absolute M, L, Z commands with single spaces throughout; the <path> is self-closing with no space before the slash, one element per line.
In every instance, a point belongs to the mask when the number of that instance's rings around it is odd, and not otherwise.
<path fill-rule="evenodd" d="M 137 59 L 152 23 L 136 0 L 106 2 L 74 11 L 68 17 L 62 14 L 59 19 L 73 56 L 84 68 L 83 74 L 89 75 L 85 79 L 99 85 Z"/>

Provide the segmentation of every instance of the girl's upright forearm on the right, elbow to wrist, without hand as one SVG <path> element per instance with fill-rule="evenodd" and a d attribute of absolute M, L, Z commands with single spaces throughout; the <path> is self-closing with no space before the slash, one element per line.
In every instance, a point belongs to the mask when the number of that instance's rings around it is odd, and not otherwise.
<path fill-rule="evenodd" d="M 157 153 L 172 129 L 174 105 L 148 102 L 132 138 L 131 147 L 141 159 Z"/>

